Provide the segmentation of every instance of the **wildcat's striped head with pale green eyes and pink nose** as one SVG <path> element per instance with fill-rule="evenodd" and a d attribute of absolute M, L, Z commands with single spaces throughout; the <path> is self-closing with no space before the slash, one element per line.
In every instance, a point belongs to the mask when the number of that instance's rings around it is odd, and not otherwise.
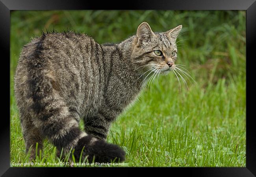
<path fill-rule="evenodd" d="M 169 31 L 154 33 L 147 22 L 137 29 L 137 35 L 132 50 L 132 62 L 141 72 L 168 73 L 175 69 L 177 59 L 176 38 L 182 25 Z"/>

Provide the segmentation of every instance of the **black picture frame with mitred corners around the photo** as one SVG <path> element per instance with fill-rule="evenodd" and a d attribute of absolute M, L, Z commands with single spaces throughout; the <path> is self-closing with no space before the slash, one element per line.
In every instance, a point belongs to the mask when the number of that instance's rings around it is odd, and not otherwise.
<path fill-rule="evenodd" d="M 125 5 L 124 5 L 125 3 Z M 3 92 L 1 98 L 6 96 L 6 100 L 2 101 L 1 110 L 7 112 L 6 102 L 8 98 L 5 92 L 9 92 L 10 86 L 7 71 L 7 58 L 10 59 L 10 11 L 11 10 L 74 10 L 74 9 L 129 9 L 129 10 L 246 10 L 246 167 L 215 167 L 215 168 L 100 168 L 103 172 L 111 171 L 112 174 L 122 175 L 123 171 L 128 170 L 133 173 L 134 169 L 142 170 L 143 172 L 151 172 L 151 170 L 166 170 L 168 175 L 179 173 L 180 175 L 187 174 L 197 177 L 253 177 L 256 175 L 256 135 L 255 118 L 253 110 L 255 109 L 255 89 L 256 82 L 254 81 L 254 65 L 256 48 L 256 0 L 143 0 L 143 1 L 128 1 L 128 2 L 99 2 L 99 1 L 79 1 L 79 0 L 0 0 L 0 49 L 1 49 L 1 87 Z M 6 62 L 6 65 L 5 63 Z M 10 63 L 9 63 L 10 64 Z M 6 76 L 6 77 L 5 77 Z M 9 102 L 10 103 L 10 102 Z M 6 107 L 6 108 L 5 108 Z M 46 176 L 53 172 L 65 173 L 68 175 L 71 172 L 76 175 L 78 172 L 86 175 L 88 171 L 98 173 L 98 168 L 10 168 L 10 143 L 9 143 L 9 117 L 1 114 L 0 128 L 0 175 L 2 176 Z M 74 171 L 75 170 L 75 171 Z M 161 173 L 160 173 L 161 174 Z M 65 175 L 65 176 L 66 176 Z"/>

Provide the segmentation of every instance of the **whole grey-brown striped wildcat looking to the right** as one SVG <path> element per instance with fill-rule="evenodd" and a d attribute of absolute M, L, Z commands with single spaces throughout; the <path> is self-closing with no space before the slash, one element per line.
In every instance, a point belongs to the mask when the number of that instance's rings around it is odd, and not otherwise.
<path fill-rule="evenodd" d="M 154 33 L 147 22 L 119 44 L 98 44 L 85 34 L 43 33 L 24 46 L 15 73 L 15 98 L 26 151 L 47 138 L 76 160 L 125 160 L 106 142 L 117 116 L 147 84 L 147 76 L 174 70 L 182 26 Z M 78 122 L 82 118 L 84 131 Z M 39 151 L 39 150 L 38 150 Z"/>

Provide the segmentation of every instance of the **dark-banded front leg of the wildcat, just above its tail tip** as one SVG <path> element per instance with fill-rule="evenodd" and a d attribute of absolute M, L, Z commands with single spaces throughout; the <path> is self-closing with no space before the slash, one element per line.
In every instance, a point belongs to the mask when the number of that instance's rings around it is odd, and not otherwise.
<path fill-rule="evenodd" d="M 111 122 L 102 114 L 98 113 L 93 117 L 85 117 L 83 121 L 86 133 L 94 135 L 100 140 L 106 140 Z"/>

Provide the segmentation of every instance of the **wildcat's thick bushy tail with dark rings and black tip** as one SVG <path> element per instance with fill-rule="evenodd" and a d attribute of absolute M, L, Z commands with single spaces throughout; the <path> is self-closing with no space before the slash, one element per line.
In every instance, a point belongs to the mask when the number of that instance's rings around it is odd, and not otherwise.
<path fill-rule="evenodd" d="M 76 160 L 87 157 L 89 162 L 121 162 L 125 160 L 125 152 L 115 144 L 99 140 L 80 130 L 76 119 L 69 112 L 64 99 L 54 89 L 50 77 L 42 76 L 40 80 L 30 78 L 27 103 L 33 124 L 43 136 L 48 138 L 59 151 L 64 153 L 74 150 Z M 83 150 L 83 152 L 82 152 Z"/>

